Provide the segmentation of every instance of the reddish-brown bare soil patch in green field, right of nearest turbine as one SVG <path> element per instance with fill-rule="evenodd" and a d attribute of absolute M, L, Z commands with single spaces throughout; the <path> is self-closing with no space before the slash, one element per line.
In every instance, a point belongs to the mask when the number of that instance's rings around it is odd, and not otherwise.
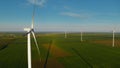
<path fill-rule="evenodd" d="M 43 44 L 43 46 L 46 50 L 49 50 L 49 53 L 52 55 L 52 57 L 46 56 L 46 59 L 48 58 L 46 68 L 64 68 L 64 66 L 57 60 L 57 58 L 70 56 L 70 53 L 67 53 L 61 48 L 57 47 L 54 41 L 52 41 L 51 44 Z M 32 64 L 33 68 L 45 68 L 45 60 L 42 60 L 41 63 L 39 60 L 33 60 Z"/>

